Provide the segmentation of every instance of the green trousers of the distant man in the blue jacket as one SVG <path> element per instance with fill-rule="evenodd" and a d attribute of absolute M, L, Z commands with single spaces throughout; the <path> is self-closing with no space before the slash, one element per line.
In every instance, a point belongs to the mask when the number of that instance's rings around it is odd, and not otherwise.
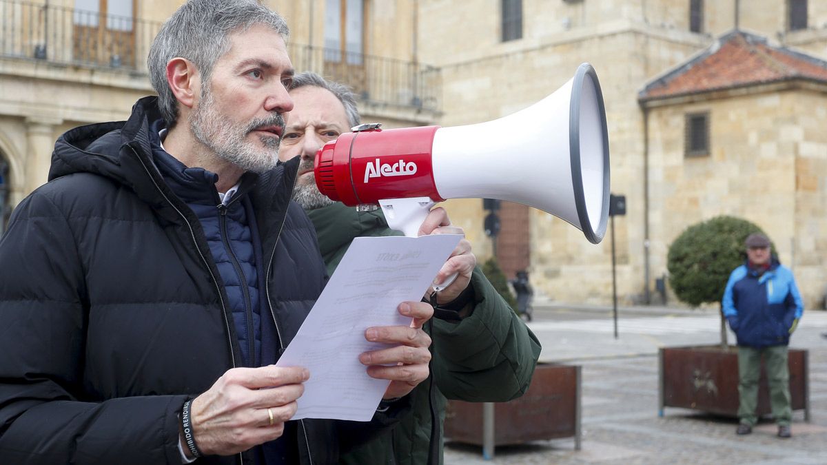
<path fill-rule="evenodd" d="M 777 424 L 789 425 L 792 419 L 790 403 L 790 368 L 786 361 L 786 346 L 768 348 L 738 348 L 738 417 L 741 423 L 753 426 L 758 422 L 758 376 L 761 375 L 761 357 L 767 367 L 770 385 L 770 405 Z"/>

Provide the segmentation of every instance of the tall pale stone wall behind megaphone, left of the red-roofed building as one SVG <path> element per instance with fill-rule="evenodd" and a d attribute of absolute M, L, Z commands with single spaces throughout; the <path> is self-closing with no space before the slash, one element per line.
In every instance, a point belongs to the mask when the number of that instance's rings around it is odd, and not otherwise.
<path fill-rule="evenodd" d="M 710 39 L 667 28 L 648 31 L 641 23 L 633 22 L 636 10 L 628 5 L 616 9 L 607 6 L 605 11 L 590 11 L 589 5 L 594 7 L 595 3 L 526 2 L 526 38 L 500 43 L 496 32 L 499 14 L 488 11 L 488 2 L 464 2 L 457 12 L 452 12 L 454 7 L 447 2 L 423 2 L 422 16 L 433 18 L 434 32 L 421 35 L 421 49 L 423 54 L 424 50 L 431 50 L 433 55 L 427 60 L 436 61 L 442 69 L 443 126 L 483 122 L 515 113 L 571 79 L 581 62 L 589 61 L 595 66 L 607 111 L 612 191 L 627 198 L 627 215 L 616 218 L 614 226 L 619 295 L 622 302 L 630 303 L 642 300 L 646 285 L 643 117 L 637 93 L 653 74 L 686 60 Z M 479 21 L 472 21 L 461 31 L 447 27 L 452 15 L 473 11 Z M 579 15 L 581 20 L 585 15 L 586 19 L 581 26 L 571 26 L 568 31 L 561 26 L 557 33 L 549 31 L 555 31 L 557 23 L 546 21 L 548 26 L 542 36 L 531 36 L 532 27 L 537 27 L 534 31 L 540 30 L 538 18 L 547 20 L 564 14 Z M 601 18 L 603 22 L 588 22 L 589 17 Z M 442 53 L 437 54 L 436 50 Z M 502 127 L 502 132 L 493 137 L 513 139 L 518 146 L 520 129 Z M 532 168 L 527 161 L 520 161 L 519 152 L 504 154 L 503 165 L 508 168 L 503 169 L 515 169 L 514 164 L 519 165 L 516 169 Z M 461 208 L 449 202 L 447 209 L 455 223 L 474 228 L 480 228 L 486 213 L 480 202 L 463 203 Z M 562 301 L 610 300 L 609 231 L 604 242 L 595 246 L 568 223 L 535 210 L 531 214 L 530 237 L 535 288 Z M 484 247 L 479 247 L 478 242 L 474 244 L 480 259 L 485 259 L 486 252 L 490 253 L 490 240 L 482 238 Z M 650 289 L 656 277 L 649 276 Z"/>

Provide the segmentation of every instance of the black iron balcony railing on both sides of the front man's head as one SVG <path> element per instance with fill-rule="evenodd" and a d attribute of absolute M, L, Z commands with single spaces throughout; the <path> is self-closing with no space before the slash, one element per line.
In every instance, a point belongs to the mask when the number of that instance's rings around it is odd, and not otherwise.
<path fill-rule="evenodd" d="M 0 56 L 56 65 L 146 74 L 146 55 L 161 22 L 71 7 L 0 0 Z M 435 111 L 437 68 L 385 57 L 289 44 L 298 71 L 350 85 L 363 102 Z"/>

